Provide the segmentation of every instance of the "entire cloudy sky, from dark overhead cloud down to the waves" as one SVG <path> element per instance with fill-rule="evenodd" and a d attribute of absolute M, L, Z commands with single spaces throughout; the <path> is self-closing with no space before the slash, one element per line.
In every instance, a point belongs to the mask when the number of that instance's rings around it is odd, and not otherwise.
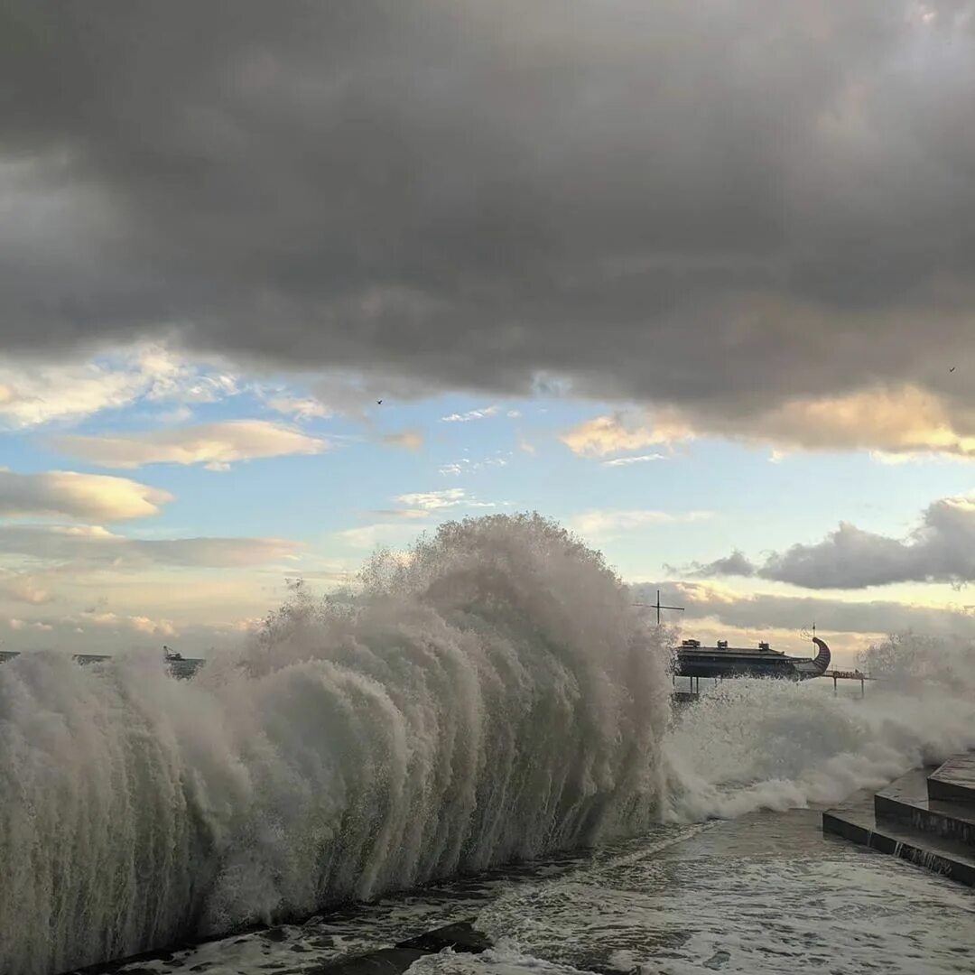
<path fill-rule="evenodd" d="M 975 636 L 973 103 L 968 0 L 0 0 L 0 645 L 526 509 L 687 635 Z"/>

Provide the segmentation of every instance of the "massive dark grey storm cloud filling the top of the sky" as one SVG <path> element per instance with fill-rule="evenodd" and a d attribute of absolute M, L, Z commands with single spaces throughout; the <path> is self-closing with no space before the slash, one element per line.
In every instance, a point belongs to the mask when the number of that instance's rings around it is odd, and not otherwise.
<path fill-rule="evenodd" d="M 970 399 L 944 364 L 972 348 L 971 14 L 3 0 L 3 348 L 174 331 L 417 388 Z"/>

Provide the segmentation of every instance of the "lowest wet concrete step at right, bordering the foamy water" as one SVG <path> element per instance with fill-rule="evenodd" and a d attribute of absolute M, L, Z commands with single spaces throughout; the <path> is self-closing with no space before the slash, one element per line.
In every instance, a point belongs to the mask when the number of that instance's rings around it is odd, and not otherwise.
<path fill-rule="evenodd" d="M 880 819 L 875 797 L 857 793 L 823 813 L 823 832 L 908 860 L 975 887 L 975 851 L 956 839 L 925 833 L 894 819 Z"/>

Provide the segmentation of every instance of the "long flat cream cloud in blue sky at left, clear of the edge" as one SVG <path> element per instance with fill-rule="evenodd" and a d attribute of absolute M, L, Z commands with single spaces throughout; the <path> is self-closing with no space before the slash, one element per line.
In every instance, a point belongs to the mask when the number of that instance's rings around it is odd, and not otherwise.
<path fill-rule="evenodd" d="M 259 457 L 321 453 L 327 441 L 265 420 L 230 420 L 119 437 L 60 436 L 53 447 L 104 467 L 144 464 L 204 464 L 226 470 L 230 464 Z"/>

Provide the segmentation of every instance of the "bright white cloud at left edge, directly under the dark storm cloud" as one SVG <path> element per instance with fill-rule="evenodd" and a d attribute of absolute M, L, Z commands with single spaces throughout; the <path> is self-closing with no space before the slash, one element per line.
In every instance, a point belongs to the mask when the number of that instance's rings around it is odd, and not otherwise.
<path fill-rule="evenodd" d="M 213 403 L 238 392 L 225 372 L 190 365 L 158 345 L 77 364 L 0 367 L 0 423 L 15 429 L 79 420 L 138 400 Z"/>

